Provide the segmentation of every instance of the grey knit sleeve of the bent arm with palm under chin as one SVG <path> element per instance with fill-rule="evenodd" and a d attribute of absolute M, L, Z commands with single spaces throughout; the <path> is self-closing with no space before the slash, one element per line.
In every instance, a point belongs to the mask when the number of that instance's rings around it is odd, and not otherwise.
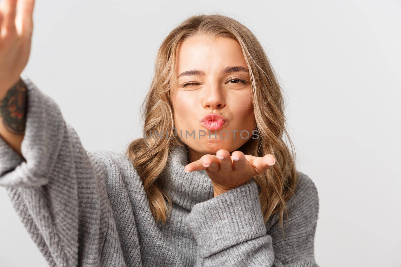
<path fill-rule="evenodd" d="M 277 222 L 267 232 L 255 181 L 194 205 L 186 224 L 198 244 L 197 265 L 318 267 L 313 249 L 316 187 L 297 189 L 288 221 L 284 218 L 286 238 Z"/>

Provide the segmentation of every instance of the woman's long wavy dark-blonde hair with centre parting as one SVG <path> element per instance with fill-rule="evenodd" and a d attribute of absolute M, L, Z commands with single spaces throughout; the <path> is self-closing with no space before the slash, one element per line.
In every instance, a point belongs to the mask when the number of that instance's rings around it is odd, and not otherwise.
<path fill-rule="evenodd" d="M 285 128 L 282 89 L 261 44 L 243 24 L 222 14 L 199 14 L 186 18 L 163 40 L 155 60 L 155 74 L 150 90 L 142 103 L 143 134 L 130 143 L 126 156 L 142 179 L 150 209 L 157 222 L 168 219 L 172 202 L 163 189 L 163 171 L 174 145 L 184 145 L 174 134 L 174 115 L 170 89 L 176 76 L 176 48 L 190 36 L 233 38 L 241 45 L 249 68 L 252 84 L 253 108 L 259 139 L 249 139 L 242 147 L 245 154 L 263 157 L 272 154 L 276 164 L 262 175 L 253 177 L 260 187 L 259 200 L 265 224 L 278 213 L 283 226 L 287 201 L 294 194 L 298 180 L 294 146 Z M 156 138 L 152 132 L 167 131 L 168 138 Z M 284 141 L 287 137 L 291 151 Z M 148 136 L 150 138 L 148 139 Z"/>

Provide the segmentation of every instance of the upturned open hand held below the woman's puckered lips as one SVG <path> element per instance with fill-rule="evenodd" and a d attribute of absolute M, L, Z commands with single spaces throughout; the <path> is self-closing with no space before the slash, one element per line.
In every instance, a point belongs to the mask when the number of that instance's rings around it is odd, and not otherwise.
<path fill-rule="evenodd" d="M 241 151 L 230 153 L 219 149 L 216 155 L 203 155 L 185 166 L 186 172 L 206 170 L 212 180 L 214 196 L 249 182 L 249 179 L 267 171 L 275 163 L 271 154 L 263 157 L 245 155 Z"/>

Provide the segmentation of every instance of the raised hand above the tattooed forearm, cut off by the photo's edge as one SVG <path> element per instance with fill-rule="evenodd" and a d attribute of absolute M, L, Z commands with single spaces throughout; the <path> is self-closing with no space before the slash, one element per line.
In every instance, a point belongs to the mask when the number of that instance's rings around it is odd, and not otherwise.
<path fill-rule="evenodd" d="M 34 3 L 34 0 L 0 2 L 0 96 L 18 82 L 28 63 Z"/>

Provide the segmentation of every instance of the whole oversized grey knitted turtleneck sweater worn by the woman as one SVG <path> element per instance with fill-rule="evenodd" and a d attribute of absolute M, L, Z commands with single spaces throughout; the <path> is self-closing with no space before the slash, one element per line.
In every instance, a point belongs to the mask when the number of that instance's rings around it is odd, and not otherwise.
<path fill-rule="evenodd" d="M 50 266 L 318 266 L 318 192 L 304 173 L 283 237 L 277 214 L 263 222 L 254 181 L 213 197 L 206 172 L 185 173 L 187 150 L 174 147 L 165 176 L 174 205 L 161 225 L 130 161 L 86 151 L 55 101 L 22 78 L 26 161 L 0 138 L 0 185 Z"/>

